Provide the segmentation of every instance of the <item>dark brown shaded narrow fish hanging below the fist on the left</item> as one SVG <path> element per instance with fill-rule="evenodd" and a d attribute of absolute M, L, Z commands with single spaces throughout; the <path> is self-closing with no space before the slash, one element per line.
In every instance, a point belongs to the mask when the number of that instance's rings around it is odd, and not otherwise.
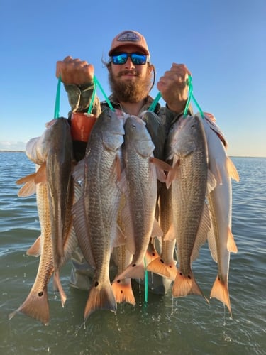
<path fill-rule="evenodd" d="M 46 176 L 52 229 L 54 257 L 54 285 L 60 291 L 62 306 L 65 293 L 60 283 L 59 268 L 64 256 L 64 230 L 70 222 L 72 206 L 72 163 L 73 148 L 70 125 L 67 119 L 60 117 L 48 127 L 45 135 Z"/>

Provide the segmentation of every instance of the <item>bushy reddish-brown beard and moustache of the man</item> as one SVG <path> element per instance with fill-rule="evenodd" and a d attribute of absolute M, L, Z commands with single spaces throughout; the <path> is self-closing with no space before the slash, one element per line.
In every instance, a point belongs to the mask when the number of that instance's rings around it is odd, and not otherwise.
<path fill-rule="evenodd" d="M 127 73 L 135 74 L 134 81 L 122 81 L 119 80 L 121 75 Z M 112 72 L 109 72 L 109 85 L 113 94 L 113 98 L 117 99 L 118 102 L 130 102 L 131 104 L 135 102 L 140 102 L 141 100 L 148 97 L 151 87 L 151 73 L 147 73 L 146 77 L 138 77 L 138 73 L 132 70 L 124 70 L 119 73 L 118 79 L 113 76 Z"/>

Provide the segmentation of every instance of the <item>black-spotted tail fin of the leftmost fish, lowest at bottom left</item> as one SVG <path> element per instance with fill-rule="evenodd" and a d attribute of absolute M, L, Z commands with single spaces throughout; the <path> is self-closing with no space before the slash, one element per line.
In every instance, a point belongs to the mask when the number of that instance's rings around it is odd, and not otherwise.
<path fill-rule="evenodd" d="M 32 317 L 35 320 L 40 320 L 40 322 L 45 325 L 48 324 L 50 312 L 47 287 L 39 293 L 29 293 L 23 304 L 18 307 L 17 310 L 9 314 L 9 320 L 11 320 L 18 312 L 22 312 L 24 315 Z"/>

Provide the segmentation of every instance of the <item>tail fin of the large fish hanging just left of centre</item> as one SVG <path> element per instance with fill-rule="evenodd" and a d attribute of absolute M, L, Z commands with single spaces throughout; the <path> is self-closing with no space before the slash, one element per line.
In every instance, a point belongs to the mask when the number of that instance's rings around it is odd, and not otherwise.
<path fill-rule="evenodd" d="M 111 310 L 116 312 L 116 298 L 113 295 L 113 289 L 110 281 L 99 284 L 94 282 L 89 291 L 89 298 L 84 310 L 84 320 L 96 310 Z"/>

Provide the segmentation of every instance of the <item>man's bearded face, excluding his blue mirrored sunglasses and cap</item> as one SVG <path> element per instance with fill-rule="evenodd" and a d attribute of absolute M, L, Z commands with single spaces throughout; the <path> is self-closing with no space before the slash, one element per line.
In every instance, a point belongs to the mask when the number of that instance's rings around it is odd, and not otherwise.
<path fill-rule="evenodd" d="M 135 45 L 119 48 L 122 53 L 140 53 Z M 151 67 L 146 64 L 134 65 L 131 58 L 121 65 L 111 63 L 109 84 L 113 95 L 121 102 L 140 102 L 148 96 L 151 87 Z"/>

